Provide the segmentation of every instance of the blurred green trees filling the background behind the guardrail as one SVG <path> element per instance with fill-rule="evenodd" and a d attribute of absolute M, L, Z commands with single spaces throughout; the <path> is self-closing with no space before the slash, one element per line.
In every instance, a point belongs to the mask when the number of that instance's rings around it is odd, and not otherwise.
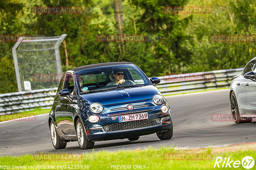
<path fill-rule="evenodd" d="M 35 6 L 79 6 L 84 13 L 35 14 Z M 165 14 L 164 6 L 211 6 L 212 13 Z M 63 71 L 100 62 L 129 61 L 151 77 L 244 67 L 255 57 L 255 43 L 212 42 L 211 37 L 256 35 L 255 15 L 253 0 L 9 0 L 0 1 L 0 35 L 67 33 L 68 66 L 64 45 L 60 46 Z M 155 35 L 158 40 L 96 40 L 98 34 L 120 32 Z M 0 42 L 0 93 L 18 91 L 14 44 Z"/>

